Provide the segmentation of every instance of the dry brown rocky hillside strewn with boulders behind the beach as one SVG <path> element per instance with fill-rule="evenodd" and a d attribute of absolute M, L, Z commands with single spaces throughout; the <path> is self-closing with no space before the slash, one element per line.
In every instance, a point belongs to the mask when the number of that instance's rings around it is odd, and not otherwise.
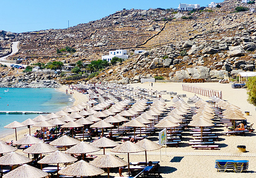
<path fill-rule="evenodd" d="M 122 10 L 97 21 L 69 29 L 10 33 L 0 31 L 0 44 L 8 47 L 20 41 L 19 52 L 10 57 L 26 57 L 27 64 L 53 60 L 101 59 L 109 50 L 127 49 L 122 65 L 102 71 L 92 80 L 138 82 L 141 77 L 165 79 L 221 79 L 239 71 L 254 71 L 256 14 L 233 13 L 235 7 L 255 7 L 241 0 L 226 0 L 221 8 L 174 13 L 171 9 Z M 10 37 L 8 37 L 8 35 Z M 70 46 L 75 53 L 56 54 L 56 48 Z M 134 54 L 135 49 L 146 50 Z M 24 64 L 25 64 L 24 63 Z"/>

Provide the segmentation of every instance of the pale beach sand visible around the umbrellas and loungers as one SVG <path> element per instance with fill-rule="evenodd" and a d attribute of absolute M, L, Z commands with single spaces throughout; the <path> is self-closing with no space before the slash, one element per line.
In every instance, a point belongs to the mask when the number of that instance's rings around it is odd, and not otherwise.
<path fill-rule="evenodd" d="M 195 94 L 182 91 L 182 84 L 183 83 L 153 83 L 153 87 L 147 83 L 133 83 L 130 84 L 131 86 L 135 87 L 142 87 L 147 89 L 153 90 L 166 90 L 166 91 L 175 91 L 178 94 L 186 94 L 187 97 L 183 98 L 185 101 L 188 100 L 188 97 L 192 97 Z M 241 111 L 244 114 L 244 111 L 249 111 L 249 116 L 244 116 L 247 118 L 247 121 L 250 123 L 254 123 L 254 116 L 256 115 L 255 106 L 249 104 L 247 102 L 247 94 L 246 89 L 232 89 L 231 84 L 221 84 L 221 83 L 193 83 L 189 85 L 195 85 L 204 88 L 211 88 L 215 90 L 221 90 L 223 99 L 232 103 L 236 106 L 239 106 Z M 68 86 L 63 86 L 59 90 L 65 91 Z M 76 100 L 73 105 L 77 105 L 79 103 L 88 101 L 87 95 L 81 94 L 77 91 L 73 91 L 74 94 L 72 96 Z M 68 90 L 70 93 L 70 90 Z M 204 97 L 201 95 L 197 95 L 204 100 L 209 100 L 208 97 Z M 171 106 L 173 103 L 171 102 L 170 95 L 162 95 L 162 98 L 167 99 L 167 106 Z M 193 104 L 189 104 L 190 106 L 194 106 Z M 250 124 L 249 124 L 250 125 Z M 256 136 L 254 133 L 246 134 L 245 136 L 223 136 L 221 134 L 222 131 L 227 131 L 226 127 L 221 127 L 218 129 L 213 130 L 214 133 L 217 133 L 219 136 L 219 141 L 216 142 L 220 149 L 216 150 L 195 150 L 192 149 L 191 146 L 188 145 L 188 140 L 191 139 L 191 135 L 188 134 L 188 131 L 185 131 L 183 134 L 183 139 L 179 144 L 178 148 L 175 147 L 167 147 L 167 156 L 165 156 L 165 148 L 162 148 L 162 161 L 160 162 L 160 169 L 159 171 L 163 172 L 161 175 L 166 178 L 170 177 L 195 177 L 195 178 L 203 178 L 203 177 L 255 177 L 256 176 L 256 150 L 255 150 L 255 143 L 256 143 Z M 32 132 L 32 131 L 31 131 Z M 18 139 L 23 137 L 24 134 L 28 133 L 28 129 L 24 129 L 18 132 Z M 9 141 L 13 139 L 15 135 L 8 135 L 2 140 Z M 157 141 L 158 134 L 155 136 L 148 137 L 152 141 Z M 119 143 L 121 143 L 119 141 Z M 235 155 L 237 152 L 237 145 L 246 145 L 246 153 L 241 153 L 242 155 L 246 156 L 232 156 Z M 109 152 L 110 149 L 106 149 L 106 153 Z M 21 150 L 17 152 L 22 153 Z M 159 150 L 155 150 L 152 152 L 147 152 L 148 161 L 160 161 Z M 207 153 L 208 155 L 217 155 L 217 156 L 198 156 L 198 153 L 204 155 Z M 210 154 L 209 154 L 210 153 Z M 229 154 L 227 154 L 229 153 Z M 23 153 L 24 154 L 24 153 Z M 92 154 L 102 154 L 102 151 L 92 153 Z M 127 156 L 118 153 L 112 153 L 118 155 L 121 158 L 124 158 L 127 161 Z M 180 155 L 188 154 L 185 156 Z M 197 154 L 197 156 L 193 156 L 193 154 Z M 223 155 L 223 156 L 220 156 Z M 229 156 L 225 156 L 229 155 Z M 217 159 L 230 159 L 230 160 L 249 160 L 249 169 L 246 173 L 234 173 L 234 172 L 217 172 L 214 168 L 215 160 Z M 136 155 L 130 155 L 130 161 L 144 161 L 145 155 L 144 152 L 137 153 Z M 126 176 L 126 169 L 123 171 L 123 175 Z M 111 170 L 110 176 L 118 176 L 118 168 Z M 98 177 L 106 177 L 106 173 L 102 174 Z"/>

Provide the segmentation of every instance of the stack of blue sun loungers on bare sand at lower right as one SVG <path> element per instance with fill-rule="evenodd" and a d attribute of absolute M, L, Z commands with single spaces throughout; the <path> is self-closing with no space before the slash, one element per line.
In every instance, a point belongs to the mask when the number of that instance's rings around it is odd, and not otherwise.
<path fill-rule="evenodd" d="M 248 160 L 216 160 L 215 168 L 217 168 L 217 172 L 225 172 L 226 170 L 242 172 L 248 169 L 248 164 Z"/>

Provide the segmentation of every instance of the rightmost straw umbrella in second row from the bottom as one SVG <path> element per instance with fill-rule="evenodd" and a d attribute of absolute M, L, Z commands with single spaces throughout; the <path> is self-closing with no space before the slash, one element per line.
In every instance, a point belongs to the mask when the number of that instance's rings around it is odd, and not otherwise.
<path fill-rule="evenodd" d="M 107 168 L 108 178 L 109 178 L 109 168 L 116 168 L 116 167 L 122 167 L 122 166 L 128 165 L 126 161 L 122 160 L 119 157 L 113 156 L 111 154 L 105 154 L 101 157 L 97 157 L 90 163 L 99 168 Z"/>

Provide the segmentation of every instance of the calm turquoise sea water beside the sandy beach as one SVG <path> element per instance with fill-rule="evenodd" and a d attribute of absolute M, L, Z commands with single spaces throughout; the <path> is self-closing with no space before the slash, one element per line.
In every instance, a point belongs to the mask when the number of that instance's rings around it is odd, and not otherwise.
<path fill-rule="evenodd" d="M 57 112 L 72 105 L 70 95 L 53 88 L 0 88 L 0 111 L 42 111 Z M 35 118 L 38 114 L 0 114 L 0 136 L 12 129 L 3 128 L 7 124 L 28 118 Z"/>

